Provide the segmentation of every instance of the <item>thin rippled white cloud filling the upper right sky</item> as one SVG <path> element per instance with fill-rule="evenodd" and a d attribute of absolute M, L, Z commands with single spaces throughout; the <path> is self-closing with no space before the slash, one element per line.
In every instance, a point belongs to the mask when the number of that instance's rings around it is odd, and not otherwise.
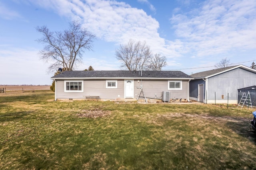
<path fill-rule="evenodd" d="M 254 0 L 212 0 L 170 21 L 176 35 L 196 57 L 256 47 L 256 3 Z"/>

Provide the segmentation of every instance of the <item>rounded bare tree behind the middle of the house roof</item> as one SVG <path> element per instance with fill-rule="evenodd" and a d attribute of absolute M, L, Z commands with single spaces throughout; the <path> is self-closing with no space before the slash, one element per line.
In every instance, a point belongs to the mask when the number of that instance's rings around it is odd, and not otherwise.
<path fill-rule="evenodd" d="M 121 68 L 128 70 L 142 70 L 146 67 L 148 59 L 152 57 L 150 47 L 143 43 L 130 39 L 125 45 L 116 49 L 116 59 L 121 61 Z"/>

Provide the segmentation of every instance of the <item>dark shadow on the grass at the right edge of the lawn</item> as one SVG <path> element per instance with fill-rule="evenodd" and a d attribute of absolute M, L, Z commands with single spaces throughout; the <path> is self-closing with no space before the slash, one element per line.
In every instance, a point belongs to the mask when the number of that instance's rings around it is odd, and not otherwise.
<path fill-rule="evenodd" d="M 245 118 L 232 118 L 234 121 L 226 123 L 230 129 L 242 137 L 246 137 L 256 145 L 256 131 L 252 129 L 251 120 Z"/>

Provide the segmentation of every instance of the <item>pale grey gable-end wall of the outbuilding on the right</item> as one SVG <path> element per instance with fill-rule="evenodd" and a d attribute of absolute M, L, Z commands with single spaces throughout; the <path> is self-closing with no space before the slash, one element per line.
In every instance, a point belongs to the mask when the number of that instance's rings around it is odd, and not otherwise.
<path fill-rule="evenodd" d="M 208 78 L 208 100 L 237 100 L 238 89 L 256 85 L 256 74 L 242 68 Z"/>

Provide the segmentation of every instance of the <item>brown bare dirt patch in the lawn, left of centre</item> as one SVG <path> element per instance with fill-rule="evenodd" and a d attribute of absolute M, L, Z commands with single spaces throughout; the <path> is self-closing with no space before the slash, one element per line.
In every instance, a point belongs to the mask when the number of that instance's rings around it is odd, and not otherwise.
<path fill-rule="evenodd" d="M 110 115 L 110 111 L 104 111 L 101 109 L 94 110 L 82 110 L 82 113 L 78 113 L 78 117 L 88 117 L 88 118 L 97 118 L 97 117 L 106 117 Z"/>

